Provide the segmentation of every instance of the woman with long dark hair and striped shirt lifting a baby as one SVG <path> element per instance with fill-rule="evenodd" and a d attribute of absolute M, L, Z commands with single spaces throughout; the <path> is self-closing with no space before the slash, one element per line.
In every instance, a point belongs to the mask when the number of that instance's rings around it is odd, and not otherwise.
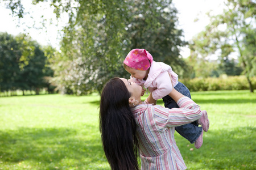
<path fill-rule="evenodd" d="M 169 95 L 180 108 L 145 104 L 141 92 L 141 86 L 124 78 L 109 80 L 102 91 L 100 132 L 110 167 L 139 169 L 139 149 L 141 169 L 186 169 L 175 126 L 199 119 L 199 105 L 175 89 Z"/>

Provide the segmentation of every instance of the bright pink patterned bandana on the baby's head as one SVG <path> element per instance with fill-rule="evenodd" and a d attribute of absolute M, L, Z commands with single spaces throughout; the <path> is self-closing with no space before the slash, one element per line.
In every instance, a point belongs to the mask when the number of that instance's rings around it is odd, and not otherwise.
<path fill-rule="evenodd" d="M 153 57 L 145 49 L 131 50 L 123 61 L 125 65 L 136 70 L 147 70 L 152 62 Z"/>

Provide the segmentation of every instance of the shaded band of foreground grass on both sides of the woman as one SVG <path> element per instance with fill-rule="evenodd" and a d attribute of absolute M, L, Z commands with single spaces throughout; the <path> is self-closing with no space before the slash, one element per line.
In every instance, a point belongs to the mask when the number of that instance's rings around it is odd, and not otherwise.
<path fill-rule="evenodd" d="M 2 165 L 27 161 L 32 169 L 109 169 L 101 167 L 108 163 L 100 136 L 89 130 L 95 128 L 86 125 L 80 133 L 66 128 L 0 131 L 0 161 Z M 255 130 L 209 129 L 198 150 L 177 133 L 175 139 L 188 169 L 255 169 Z"/>

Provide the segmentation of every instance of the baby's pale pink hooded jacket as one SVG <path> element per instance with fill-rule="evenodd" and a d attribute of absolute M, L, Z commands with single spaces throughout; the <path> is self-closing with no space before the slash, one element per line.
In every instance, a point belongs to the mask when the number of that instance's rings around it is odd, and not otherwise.
<path fill-rule="evenodd" d="M 172 76 L 172 82 L 169 74 Z M 162 99 L 172 91 L 172 84 L 176 86 L 178 75 L 172 71 L 172 67 L 163 62 L 153 61 L 150 66 L 150 71 L 147 80 L 133 78 L 138 85 L 144 85 L 145 88 L 152 93 L 155 100 Z"/>

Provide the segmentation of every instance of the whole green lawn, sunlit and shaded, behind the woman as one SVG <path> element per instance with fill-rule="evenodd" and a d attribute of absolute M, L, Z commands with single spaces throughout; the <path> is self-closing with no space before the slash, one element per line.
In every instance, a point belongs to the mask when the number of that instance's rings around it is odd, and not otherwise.
<path fill-rule="evenodd" d="M 192 92 L 192 99 L 207 110 L 210 129 L 198 150 L 175 133 L 188 169 L 256 169 L 256 94 Z M 0 169 L 110 169 L 98 130 L 99 100 L 0 97 Z"/>

